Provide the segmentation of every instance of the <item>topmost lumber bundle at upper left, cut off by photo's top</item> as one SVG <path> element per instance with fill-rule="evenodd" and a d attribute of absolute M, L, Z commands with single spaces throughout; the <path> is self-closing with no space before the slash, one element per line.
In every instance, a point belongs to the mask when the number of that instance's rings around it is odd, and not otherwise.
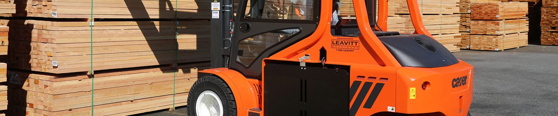
<path fill-rule="evenodd" d="M 90 18 L 89 0 L 14 1 L 16 16 L 48 18 Z M 177 18 L 208 19 L 212 1 L 179 0 L 93 1 L 93 18 Z"/>

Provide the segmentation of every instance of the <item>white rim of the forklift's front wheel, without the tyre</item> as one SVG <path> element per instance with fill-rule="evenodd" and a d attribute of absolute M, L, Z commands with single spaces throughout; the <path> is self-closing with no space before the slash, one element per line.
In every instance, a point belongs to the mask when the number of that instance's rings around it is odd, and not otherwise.
<path fill-rule="evenodd" d="M 206 90 L 196 99 L 196 115 L 223 116 L 223 104 L 213 91 Z"/>

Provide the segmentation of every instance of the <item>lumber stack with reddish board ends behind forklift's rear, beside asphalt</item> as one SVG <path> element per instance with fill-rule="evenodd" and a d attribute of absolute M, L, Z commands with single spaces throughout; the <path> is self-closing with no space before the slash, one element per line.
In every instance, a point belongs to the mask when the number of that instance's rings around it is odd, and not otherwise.
<path fill-rule="evenodd" d="M 470 49 L 501 51 L 527 46 L 526 2 L 473 3 Z"/>

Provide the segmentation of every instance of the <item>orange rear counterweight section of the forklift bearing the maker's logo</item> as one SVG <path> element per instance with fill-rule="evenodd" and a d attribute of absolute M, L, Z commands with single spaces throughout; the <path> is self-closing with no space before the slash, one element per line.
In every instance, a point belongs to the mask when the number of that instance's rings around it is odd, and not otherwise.
<path fill-rule="evenodd" d="M 467 77 L 466 84 L 453 88 L 453 79 Z M 421 85 L 429 81 L 430 89 Z M 416 88 L 416 99 L 409 99 L 409 88 Z M 397 112 L 407 114 L 441 112 L 467 115 L 473 98 L 473 66 L 460 61 L 445 67 L 401 67 L 397 70 Z M 460 101 L 460 96 L 462 96 Z M 461 103 L 460 103 L 461 102 Z M 459 109 L 462 110 L 459 113 Z"/>

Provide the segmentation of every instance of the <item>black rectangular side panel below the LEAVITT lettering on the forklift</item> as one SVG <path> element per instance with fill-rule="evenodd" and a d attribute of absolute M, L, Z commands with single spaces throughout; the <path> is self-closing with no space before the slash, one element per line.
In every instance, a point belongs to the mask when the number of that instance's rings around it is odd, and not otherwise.
<path fill-rule="evenodd" d="M 263 78 L 266 116 L 349 114 L 345 70 L 266 64 Z"/>

